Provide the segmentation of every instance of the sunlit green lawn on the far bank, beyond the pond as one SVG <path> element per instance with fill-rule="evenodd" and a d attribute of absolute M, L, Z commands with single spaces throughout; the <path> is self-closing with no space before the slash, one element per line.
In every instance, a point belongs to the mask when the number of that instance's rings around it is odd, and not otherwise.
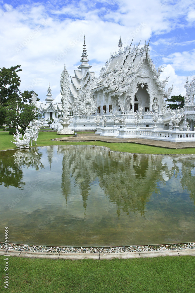
<path fill-rule="evenodd" d="M 87 133 L 87 132 L 83 132 Z M 92 132 L 88 132 L 91 133 Z M 70 135 L 68 135 L 70 136 Z M 141 144 L 134 144 L 134 143 L 106 143 L 106 142 L 54 142 L 50 139 L 61 137 L 57 135 L 57 132 L 39 132 L 39 137 L 37 140 L 38 146 L 49 146 L 49 145 L 67 145 L 67 144 L 80 144 L 80 145 L 98 145 L 98 146 L 105 146 L 109 147 L 112 151 L 122 151 L 122 152 L 129 152 L 129 153 L 137 153 L 137 154 L 195 154 L 195 148 L 188 148 L 188 149 L 165 149 L 159 147 L 151 147 Z M 65 137 L 65 135 L 64 135 Z M 5 149 L 15 149 L 15 145 L 10 142 L 13 141 L 13 135 L 5 133 L 4 131 L 0 132 L 0 150 Z M 33 145 L 34 142 L 33 142 Z"/>

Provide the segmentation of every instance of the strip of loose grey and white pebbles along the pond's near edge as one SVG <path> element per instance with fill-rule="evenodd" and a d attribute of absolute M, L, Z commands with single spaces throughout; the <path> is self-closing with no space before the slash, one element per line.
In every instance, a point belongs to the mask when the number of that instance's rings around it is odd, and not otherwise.
<path fill-rule="evenodd" d="M 5 243 L 0 243 L 0 250 L 4 251 Z M 98 254 L 98 253 L 146 253 L 146 252 L 168 252 L 195 249 L 195 243 L 177 243 L 162 245 L 142 245 L 142 246 L 114 246 L 114 247 L 58 247 L 58 246 L 37 246 L 25 244 L 9 243 L 9 252 L 33 252 L 33 253 L 81 253 L 81 254 Z"/>

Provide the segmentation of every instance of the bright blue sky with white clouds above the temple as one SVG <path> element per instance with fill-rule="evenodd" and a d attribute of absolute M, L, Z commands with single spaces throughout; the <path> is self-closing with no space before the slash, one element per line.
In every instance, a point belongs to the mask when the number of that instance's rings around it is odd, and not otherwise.
<path fill-rule="evenodd" d="M 64 58 L 70 75 L 77 69 L 83 36 L 89 64 L 96 76 L 124 45 L 150 41 L 156 67 L 165 67 L 172 95 L 185 94 L 186 77 L 195 74 L 195 1 L 100 0 L 18 1 L 0 0 L 0 67 L 21 65 L 21 90 L 46 98 L 50 81 L 53 97 L 60 101 L 60 73 Z"/>

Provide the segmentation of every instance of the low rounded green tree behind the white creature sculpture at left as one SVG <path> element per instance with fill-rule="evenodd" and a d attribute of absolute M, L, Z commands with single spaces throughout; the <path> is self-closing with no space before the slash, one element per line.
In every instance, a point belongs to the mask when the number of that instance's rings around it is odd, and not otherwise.
<path fill-rule="evenodd" d="M 30 124 L 30 121 L 37 120 L 40 117 L 39 109 L 34 104 L 25 104 L 23 102 L 10 101 L 6 106 L 1 106 L 6 122 L 11 123 L 23 130 Z"/>

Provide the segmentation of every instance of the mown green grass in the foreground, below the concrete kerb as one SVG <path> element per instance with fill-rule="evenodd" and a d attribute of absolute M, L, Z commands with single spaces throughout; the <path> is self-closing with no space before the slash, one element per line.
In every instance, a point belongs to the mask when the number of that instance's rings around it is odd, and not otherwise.
<path fill-rule="evenodd" d="M 1 288 L 4 257 L 1 256 Z M 48 260 L 9 257 L 9 292 L 194 293 L 195 258 L 167 256 L 114 260 Z"/>

